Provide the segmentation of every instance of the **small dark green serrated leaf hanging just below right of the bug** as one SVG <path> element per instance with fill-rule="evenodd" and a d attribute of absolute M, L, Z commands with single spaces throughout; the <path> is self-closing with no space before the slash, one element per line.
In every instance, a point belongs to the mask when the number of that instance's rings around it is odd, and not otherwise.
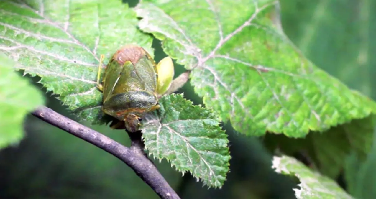
<path fill-rule="evenodd" d="M 147 115 L 143 123 L 145 148 L 183 174 L 190 171 L 209 187 L 221 187 L 229 171 L 230 154 L 218 118 L 180 94 L 165 96 L 159 103 L 159 113 Z"/>

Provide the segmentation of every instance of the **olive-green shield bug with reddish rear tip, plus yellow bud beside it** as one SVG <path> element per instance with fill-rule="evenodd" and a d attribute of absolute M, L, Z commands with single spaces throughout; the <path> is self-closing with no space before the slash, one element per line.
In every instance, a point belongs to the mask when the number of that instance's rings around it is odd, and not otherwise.
<path fill-rule="evenodd" d="M 97 88 L 103 92 L 102 110 L 120 120 L 111 128 L 116 129 L 124 121 L 127 131 L 136 132 L 141 126 L 142 117 L 160 108 L 158 96 L 167 90 L 166 84 L 171 84 L 173 62 L 167 57 L 156 65 L 142 47 L 126 45 L 112 56 L 100 82 L 103 59 L 101 55 L 97 76 Z M 158 71 L 164 68 L 169 70 L 169 76 L 166 78 L 164 71 L 165 77 L 158 82 Z"/>

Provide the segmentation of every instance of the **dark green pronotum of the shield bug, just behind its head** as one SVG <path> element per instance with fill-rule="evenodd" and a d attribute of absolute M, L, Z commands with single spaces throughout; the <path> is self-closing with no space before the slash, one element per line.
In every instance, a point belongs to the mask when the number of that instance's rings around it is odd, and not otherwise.
<path fill-rule="evenodd" d="M 147 91 L 127 91 L 111 96 L 103 103 L 103 111 L 117 118 L 124 120 L 124 117 L 133 113 L 142 117 L 146 112 L 158 103 L 158 99 Z"/>

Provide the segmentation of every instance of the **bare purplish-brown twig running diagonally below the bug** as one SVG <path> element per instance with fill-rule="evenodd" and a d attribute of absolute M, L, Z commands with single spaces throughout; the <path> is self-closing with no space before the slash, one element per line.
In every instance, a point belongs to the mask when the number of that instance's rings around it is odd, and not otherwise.
<path fill-rule="evenodd" d="M 146 157 L 146 154 L 143 151 L 143 145 L 139 143 L 141 137 L 131 139 L 132 146 L 131 148 L 128 148 L 45 106 L 36 109 L 32 114 L 59 129 L 67 131 L 68 133 L 111 153 L 132 168 L 133 171 L 162 199 L 180 199 L 173 188 L 171 188 L 163 178 L 161 173 L 159 173 L 153 162 Z M 141 135 L 141 132 L 138 132 L 138 134 Z"/>

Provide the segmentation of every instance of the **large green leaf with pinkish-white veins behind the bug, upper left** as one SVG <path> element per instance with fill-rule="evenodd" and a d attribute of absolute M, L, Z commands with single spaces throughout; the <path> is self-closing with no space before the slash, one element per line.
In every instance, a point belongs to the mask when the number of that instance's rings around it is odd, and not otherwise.
<path fill-rule="evenodd" d="M 107 62 L 124 44 L 151 55 L 152 38 L 136 29 L 132 9 L 120 0 L 3 0 L 0 52 L 41 83 L 79 118 L 98 123 L 102 93 L 96 89 L 99 56 Z"/>

